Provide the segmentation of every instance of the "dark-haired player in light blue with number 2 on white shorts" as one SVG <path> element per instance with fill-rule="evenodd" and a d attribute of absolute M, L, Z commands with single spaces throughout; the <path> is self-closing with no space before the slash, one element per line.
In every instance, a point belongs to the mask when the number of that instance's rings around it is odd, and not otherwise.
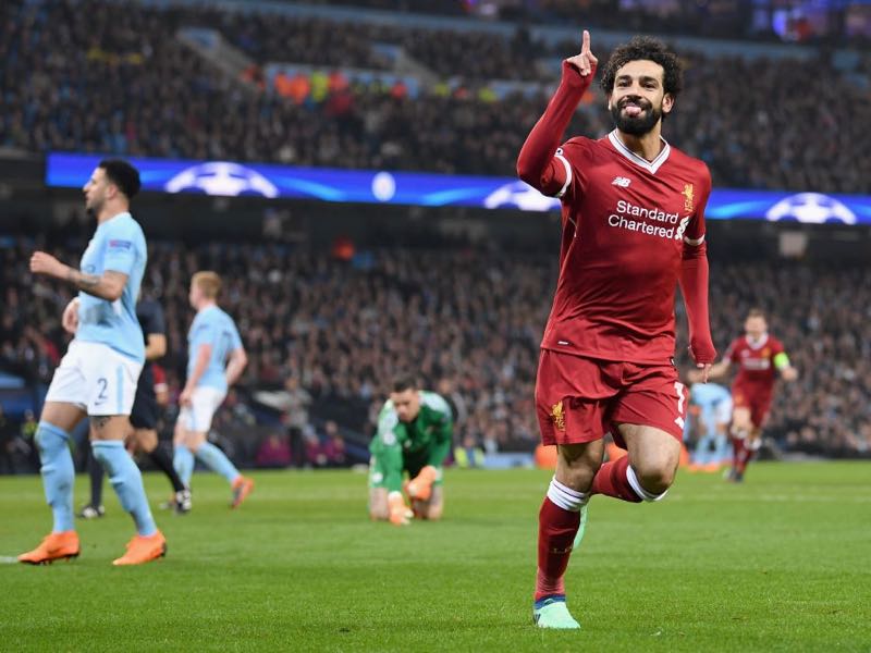
<path fill-rule="evenodd" d="M 101 161 L 85 184 L 85 207 L 97 231 L 82 257 L 81 270 L 37 251 L 30 271 L 78 288 L 78 330 L 54 370 L 36 432 L 46 500 L 54 515 L 49 535 L 22 563 L 48 564 L 76 557 L 73 519 L 75 470 L 70 432 L 90 418 L 94 457 L 106 468 L 121 505 L 133 516 L 137 534 L 113 565 L 138 565 L 167 552 L 143 489 L 139 468 L 124 449 L 136 382 L 145 361 L 145 340 L 136 319 L 136 297 L 148 258 L 145 235 L 130 214 L 139 190 L 139 173 L 126 161 Z"/>

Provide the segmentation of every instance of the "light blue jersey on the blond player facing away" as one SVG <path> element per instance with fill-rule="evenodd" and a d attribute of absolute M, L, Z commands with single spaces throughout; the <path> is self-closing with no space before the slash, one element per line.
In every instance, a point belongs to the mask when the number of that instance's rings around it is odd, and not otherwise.
<path fill-rule="evenodd" d="M 187 332 L 187 375 L 194 372 L 200 345 L 211 345 L 209 366 L 199 378 L 197 387 L 217 387 L 226 392 L 226 359 L 230 354 L 242 347 L 236 323 L 229 315 L 217 306 L 204 308 L 194 318 L 191 331 Z"/>

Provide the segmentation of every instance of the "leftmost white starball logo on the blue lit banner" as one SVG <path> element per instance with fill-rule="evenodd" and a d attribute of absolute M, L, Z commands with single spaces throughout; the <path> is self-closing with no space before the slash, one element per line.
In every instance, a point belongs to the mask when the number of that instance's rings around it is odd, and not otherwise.
<path fill-rule="evenodd" d="M 211 161 L 192 165 L 172 177 L 164 189 L 168 193 L 205 193 L 236 197 L 258 195 L 278 197 L 279 189 L 256 170 L 229 161 Z"/>

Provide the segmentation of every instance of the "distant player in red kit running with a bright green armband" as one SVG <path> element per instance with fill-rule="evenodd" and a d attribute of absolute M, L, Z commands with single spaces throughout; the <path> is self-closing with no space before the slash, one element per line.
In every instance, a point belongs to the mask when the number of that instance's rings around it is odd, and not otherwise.
<path fill-rule="evenodd" d="M 755 308 L 747 313 L 744 335 L 732 341 L 723 359 L 711 368 L 710 377 L 728 372 L 732 365 L 738 374 L 732 383 L 732 446 L 734 449 L 729 480 L 740 482 L 744 471 L 762 445 L 762 429 L 768 420 L 777 373 L 784 381 L 798 379 L 783 344 L 769 335 L 765 313 Z"/>

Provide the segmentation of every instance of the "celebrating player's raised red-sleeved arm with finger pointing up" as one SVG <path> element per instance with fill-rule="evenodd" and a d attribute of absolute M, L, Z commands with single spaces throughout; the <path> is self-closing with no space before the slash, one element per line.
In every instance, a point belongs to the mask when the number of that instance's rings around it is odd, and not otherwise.
<path fill-rule="evenodd" d="M 580 54 L 563 61 L 560 87 L 544 114 L 526 138 L 517 158 L 517 176 L 544 195 L 563 197 L 572 183 L 572 168 L 554 160 L 563 132 L 596 75 L 599 60 L 590 51 L 590 33 L 584 30 Z"/>

